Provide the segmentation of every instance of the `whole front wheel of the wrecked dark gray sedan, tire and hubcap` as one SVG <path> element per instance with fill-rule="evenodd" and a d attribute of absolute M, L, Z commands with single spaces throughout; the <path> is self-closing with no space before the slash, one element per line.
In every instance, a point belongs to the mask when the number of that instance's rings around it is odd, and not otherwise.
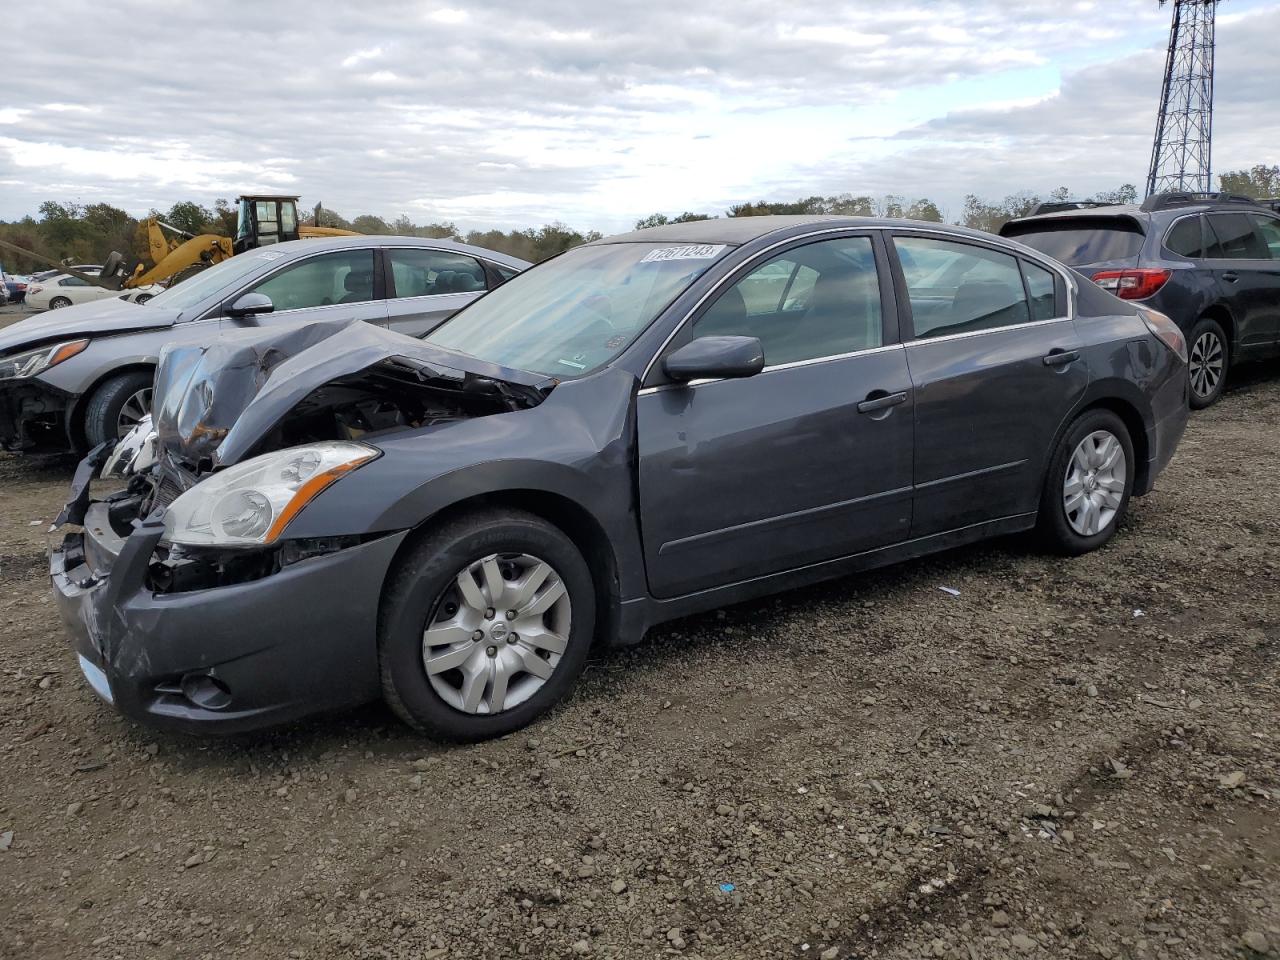
<path fill-rule="evenodd" d="M 573 686 L 595 628 L 573 541 L 522 511 L 449 521 L 392 573 L 379 616 L 383 695 L 443 740 L 502 736 Z"/>

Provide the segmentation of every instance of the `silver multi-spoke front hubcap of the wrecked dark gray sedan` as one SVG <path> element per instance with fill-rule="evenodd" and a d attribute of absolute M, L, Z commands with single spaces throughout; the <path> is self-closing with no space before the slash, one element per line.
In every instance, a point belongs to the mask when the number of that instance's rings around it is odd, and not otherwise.
<path fill-rule="evenodd" d="M 527 553 L 493 553 L 453 579 L 422 631 L 431 689 L 463 713 L 509 710 L 545 684 L 571 625 L 556 570 Z"/>

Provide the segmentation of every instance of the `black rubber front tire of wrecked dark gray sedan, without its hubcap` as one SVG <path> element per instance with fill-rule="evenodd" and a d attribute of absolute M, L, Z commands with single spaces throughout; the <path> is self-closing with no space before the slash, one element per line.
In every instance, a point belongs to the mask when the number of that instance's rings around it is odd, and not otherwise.
<path fill-rule="evenodd" d="M 529 554 L 549 563 L 572 609 L 567 644 L 554 671 L 529 699 L 494 714 L 465 713 L 433 687 L 422 662 L 422 634 L 445 591 L 468 564 L 490 554 Z M 531 723 L 556 705 L 586 666 L 595 632 L 591 572 L 573 541 L 532 513 L 489 509 L 429 531 L 389 577 L 378 623 L 383 695 L 408 726 L 440 740 L 472 742 Z"/>

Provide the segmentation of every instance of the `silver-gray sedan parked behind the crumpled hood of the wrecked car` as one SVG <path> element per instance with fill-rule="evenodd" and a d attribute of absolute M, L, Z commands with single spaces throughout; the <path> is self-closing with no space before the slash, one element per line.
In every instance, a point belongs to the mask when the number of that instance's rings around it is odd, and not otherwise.
<path fill-rule="evenodd" d="M 224 260 L 145 305 L 28 317 L 0 330 L 0 447 L 84 449 L 123 435 L 151 410 L 168 343 L 333 317 L 421 335 L 527 266 L 443 239 L 305 239 Z"/>

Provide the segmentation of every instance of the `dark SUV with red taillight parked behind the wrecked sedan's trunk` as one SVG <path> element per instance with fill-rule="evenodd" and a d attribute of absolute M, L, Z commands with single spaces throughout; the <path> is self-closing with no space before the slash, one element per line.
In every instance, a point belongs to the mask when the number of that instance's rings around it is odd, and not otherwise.
<path fill-rule="evenodd" d="M 1228 370 L 1280 355 L 1280 215 L 1228 193 L 1162 193 L 1142 206 L 1066 201 L 1000 230 L 1176 323 L 1190 344 L 1190 404 Z"/>

